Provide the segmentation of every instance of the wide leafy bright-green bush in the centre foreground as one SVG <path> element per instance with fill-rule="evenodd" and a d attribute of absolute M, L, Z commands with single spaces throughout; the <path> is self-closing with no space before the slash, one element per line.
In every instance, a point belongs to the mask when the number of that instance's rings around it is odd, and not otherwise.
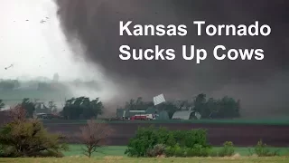
<path fill-rule="evenodd" d="M 125 154 L 129 157 L 149 157 L 157 144 L 167 147 L 166 155 L 176 157 L 182 157 L 184 153 L 187 153 L 187 149 L 195 149 L 199 146 L 200 149 L 210 149 L 207 144 L 207 132 L 204 129 L 171 131 L 151 126 L 137 129 L 135 138 L 130 139 Z"/>

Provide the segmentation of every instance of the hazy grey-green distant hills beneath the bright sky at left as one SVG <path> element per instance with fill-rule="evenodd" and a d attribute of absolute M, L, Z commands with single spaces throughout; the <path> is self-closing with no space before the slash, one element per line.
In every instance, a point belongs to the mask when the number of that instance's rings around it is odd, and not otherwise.
<path fill-rule="evenodd" d="M 89 88 L 98 90 L 98 82 L 54 82 L 51 80 L 40 81 L 18 81 L 0 79 L 0 99 L 6 105 L 14 105 L 23 98 L 41 102 L 54 101 L 58 106 L 64 104 L 65 100 L 73 97 L 71 86 L 74 89 Z M 85 96 L 85 94 L 83 94 Z"/>

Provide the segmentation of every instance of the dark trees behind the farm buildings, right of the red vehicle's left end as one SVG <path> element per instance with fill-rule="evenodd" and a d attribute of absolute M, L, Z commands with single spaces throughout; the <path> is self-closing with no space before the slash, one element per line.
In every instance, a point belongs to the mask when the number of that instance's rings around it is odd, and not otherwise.
<path fill-rule="evenodd" d="M 154 107 L 153 101 L 143 101 L 142 97 L 131 99 L 126 102 L 124 110 L 147 110 Z M 155 109 L 168 112 L 170 119 L 175 111 L 178 110 L 195 110 L 198 111 L 203 119 L 231 119 L 240 116 L 240 101 L 225 96 L 221 99 L 207 98 L 207 95 L 200 93 L 193 101 L 166 101 Z"/>

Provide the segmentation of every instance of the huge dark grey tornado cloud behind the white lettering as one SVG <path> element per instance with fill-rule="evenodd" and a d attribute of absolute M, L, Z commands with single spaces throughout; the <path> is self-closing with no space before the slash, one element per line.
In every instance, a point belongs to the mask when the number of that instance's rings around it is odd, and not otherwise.
<path fill-rule="evenodd" d="M 252 86 L 259 88 L 266 84 L 268 87 L 267 83 L 271 83 L 269 86 L 272 88 L 276 86 L 276 81 L 285 80 L 284 75 L 276 74 L 287 72 L 288 69 L 288 1 L 56 0 L 56 4 L 68 40 L 77 38 L 87 49 L 84 53 L 87 61 L 102 66 L 107 76 L 123 83 L 126 91 L 134 90 L 139 95 L 143 93 L 150 97 L 159 92 L 171 97 L 186 97 L 200 91 L 221 92 L 229 85 L 231 90 L 242 88 L 241 96 L 236 91 L 230 91 L 230 94 L 242 100 L 251 94 L 252 89 L 249 88 Z M 119 36 L 119 21 L 128 20 L 134 24 L 186 24 L 189 34 L 185 37 Z M 197 36 L 196 26 L 192 24 L 194 20 L 205 20 L 207 24 L 236 25 L 259 21 L 260 24 L 269 24 L 272 33 L 267 37 Z M 154 48 L 155 44 L 162 48 L 173 48 L 177 52 L 176 59 L 121 61 L 118 48 L 122 44 L 129 44 L 132 48 Z M 209 58 L 198 65 L 195 60 L 184 61 L 182 44 L 194 44 L 206 49 Z M 265 59 L 216 61 L 212 50 L 218 44 L 228 49 L 261 48 L 265 51 Z M 137 87 L 131 88 L 132 82 L 137 83 Z M 283 88 L 269 89 L 266 93 L 288 91 Z M 280 97 L 266 97 L 270 98 L 278 99 L 278 106 L 284 107 Z M 246 102 L 250 103 L 249 99 Z"/>

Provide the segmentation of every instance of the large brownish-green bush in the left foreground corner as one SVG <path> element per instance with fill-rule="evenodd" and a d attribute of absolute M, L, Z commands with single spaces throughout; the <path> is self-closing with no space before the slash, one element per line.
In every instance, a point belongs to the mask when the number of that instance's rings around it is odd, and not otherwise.
<path fill-rule="evenodd" d="M 11 122 L 0 130 L 2 157 L 61 157 L 60 134 L 50 134 L 39 120 L 24 119 L 22 108 L 16 108 Z"/>

